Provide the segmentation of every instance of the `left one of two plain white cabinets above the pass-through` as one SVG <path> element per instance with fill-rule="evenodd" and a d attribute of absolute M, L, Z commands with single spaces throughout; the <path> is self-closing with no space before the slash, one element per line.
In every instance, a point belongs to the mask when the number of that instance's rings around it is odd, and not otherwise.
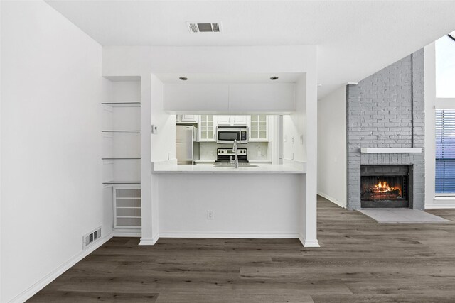
<path fill-rule="evenodd" d="M 165 84 L 165 111 L 228 111 L 228 84 Z"/>

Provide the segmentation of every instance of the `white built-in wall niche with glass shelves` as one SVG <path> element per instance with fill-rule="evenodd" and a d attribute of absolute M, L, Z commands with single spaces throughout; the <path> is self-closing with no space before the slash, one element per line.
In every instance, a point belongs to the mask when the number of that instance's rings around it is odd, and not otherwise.
<path fill-rule="evenodd" d="M 102 102 L 104 199 L 112 205 L 114 233 L 140 233 L 141 82 L 139 77 L 106 78 L 110 89 Z"/>

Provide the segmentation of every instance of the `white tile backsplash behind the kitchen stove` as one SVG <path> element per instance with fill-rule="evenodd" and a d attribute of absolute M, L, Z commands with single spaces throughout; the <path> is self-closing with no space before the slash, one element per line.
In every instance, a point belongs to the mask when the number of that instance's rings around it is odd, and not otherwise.
<path fill-rule="evenodd" d="M 239 144 L 239 148 L 247 148 L 248 160 L 270 161 L 269 153 L 267 153 L 268 147 L 268 142 L 250 142 L 247 144 Z M 201 142 L 199 148 L 200 160 L 215 161 L 217 148 L 232 148 L 232 145 L 217 144 L 215 142 Z M 260 152 L 261 155 L 258 155 L 258 152 Z"/>

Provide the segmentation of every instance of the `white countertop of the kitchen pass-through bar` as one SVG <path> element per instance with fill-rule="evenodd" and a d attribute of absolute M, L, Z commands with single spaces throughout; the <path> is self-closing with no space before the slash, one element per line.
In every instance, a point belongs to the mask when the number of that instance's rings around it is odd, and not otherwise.
<path fill-rule="evenodd" d="M 276 165 L 270 163 L 255 163 L 259 167 L 214 167 L 212 163 L 200 163 L 196 165 L 177 165 L 175 161 L 152 163 L 152 173 L 210 173 L 210 174 L 304 174 L 306 163 L 289 161 L 285 164 Z"/>

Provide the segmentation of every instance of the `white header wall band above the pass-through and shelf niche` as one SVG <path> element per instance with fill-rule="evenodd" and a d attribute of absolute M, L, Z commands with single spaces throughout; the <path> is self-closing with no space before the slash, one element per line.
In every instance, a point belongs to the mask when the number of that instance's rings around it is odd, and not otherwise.
<path fill-rule="evenodd" d="M 143 73 L 306 72 L 316 46 L 112 46 L 103 48 L 103 75 Z M 191 57 L 188 57 L 191 54 Z"/>

